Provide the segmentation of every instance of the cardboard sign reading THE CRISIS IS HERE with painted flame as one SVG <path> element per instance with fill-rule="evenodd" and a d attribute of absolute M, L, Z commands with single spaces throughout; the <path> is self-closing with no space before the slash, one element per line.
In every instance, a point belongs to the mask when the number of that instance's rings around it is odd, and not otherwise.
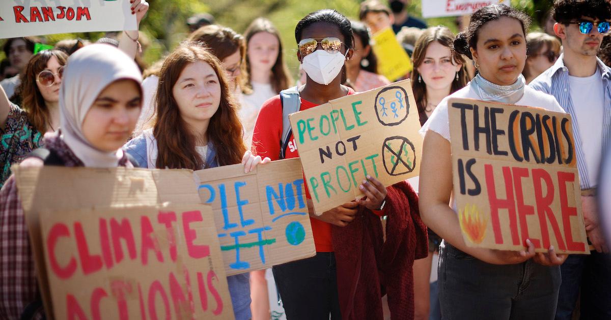
<path fill-rule="evenodd" d="M 588 253 L 571 116 L 450 99 L 454 198 L 468 246 Z"/>

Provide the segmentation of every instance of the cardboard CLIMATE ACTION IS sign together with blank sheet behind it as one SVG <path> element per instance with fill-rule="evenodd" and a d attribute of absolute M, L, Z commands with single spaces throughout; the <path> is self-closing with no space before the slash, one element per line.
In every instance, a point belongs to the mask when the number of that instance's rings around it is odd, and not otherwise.
<path fill-rule="evenodd" d="M 192 171 L 13 172 L 48 318 L 233 319 L 213 213 Z"/>

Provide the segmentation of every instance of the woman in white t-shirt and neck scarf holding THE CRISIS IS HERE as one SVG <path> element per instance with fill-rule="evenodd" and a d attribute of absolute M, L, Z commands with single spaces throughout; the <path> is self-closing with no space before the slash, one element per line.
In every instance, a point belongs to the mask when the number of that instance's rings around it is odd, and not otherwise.
<path fill-rule="evenodd" d="M 566 255 L 550 247 L 535 254 L 469 247 L 453 209 L 448 99 L 472 98 L 529 105 L 564 112 L 554 97 L 525 86 L 526 30 L 529 18 L 507 5 L 475 12 L 466 31 L 456 36 L 455 54 L 475 61 L 478 75 L 444 98 L 422 127 L 420 214 L 444 240 L 439 257 L 439 299 L 444 319 L 553 319 Z M 448 205 L 450 204 L 450 205 Z"/>

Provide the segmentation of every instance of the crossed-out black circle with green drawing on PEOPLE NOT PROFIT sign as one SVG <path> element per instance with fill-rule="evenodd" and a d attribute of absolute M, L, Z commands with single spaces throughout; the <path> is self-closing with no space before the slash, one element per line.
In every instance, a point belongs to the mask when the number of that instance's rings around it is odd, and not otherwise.
<path fill-rule="evenodd" d="M 382 163 L 390 176 L 414 171 L 416 158 L 414 144 L 408 138 L 394 136 L 382 144 Z"/>

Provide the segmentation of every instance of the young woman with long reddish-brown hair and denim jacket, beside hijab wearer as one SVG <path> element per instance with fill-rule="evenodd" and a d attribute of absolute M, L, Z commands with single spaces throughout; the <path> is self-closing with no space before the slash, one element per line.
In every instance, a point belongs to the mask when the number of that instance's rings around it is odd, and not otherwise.
<path fill-rule="evenodd" d="M 125 145 L 143 168 L 199 170 L 262 161 L 242 140 L 242 125 L 221 62 L 201 43 L 182 43 L 164 61 L 152 129 Z M 251 318 L 248 274 L 227 277 L 236 319 Z"/>

